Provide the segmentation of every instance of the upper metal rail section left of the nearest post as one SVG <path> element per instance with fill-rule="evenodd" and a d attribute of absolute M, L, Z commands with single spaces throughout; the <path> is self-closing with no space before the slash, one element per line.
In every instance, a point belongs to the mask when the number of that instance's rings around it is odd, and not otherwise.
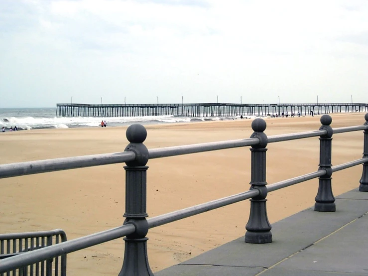
<path fill-rule="evenodd" d="M 135 159 L 133 151 L 65 157 L 0 165 L 0 178 L 50 171 L 123 163 Z"/>

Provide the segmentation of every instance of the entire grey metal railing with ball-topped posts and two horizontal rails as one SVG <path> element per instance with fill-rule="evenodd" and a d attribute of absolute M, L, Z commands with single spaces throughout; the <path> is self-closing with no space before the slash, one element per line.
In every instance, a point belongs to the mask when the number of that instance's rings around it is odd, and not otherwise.
<path fill-rule="evenodd" d="M 322 126 L 317 131 L 267 137 L 264 133 L 266 122 L 258 118 L 252 122 L 251 127 L 254 133 L 247 139 L 149 150 L 143 144 L 147 136 L 145 128 L 141 125 L 134 124 L 126 130 L 126 138 L 129 144 L 123 152 L 0 165 L 0 178 L 6 178 L 57 170 L 126 163 L 126 166 L 124 166 L 125 213 L 123 215 L 125 221 L 122 226 L 3 259 L 0 261 L 0 273 L 10 272 L 57 256 L 63 256 L 71 252 L 125 237 L 123 267 L 119 276 L 153 275 L 148 264 L 146 247 L 148 240 L 146 235 L 150 228 L 201 214 L 245 199 L 250 199 L 250 214 L 245 227 L 247 230 L 245 233 L 245 243 L 271 243 L 271 225 L 266 212 L 266 197 L 268 192 L 318 177 L 319 188 L 315 198 L 314 210 L 318 212 L 334 212 L 336 211 L 336 204 L 331 185 L 332 174 L 359 164 L 363 164 L 359 190 L 368 192 L 368 114 L 365 115 L 365 120 L 365 124 L 361 126 L 332 129 L 330 126 L 332 118 L 329 115 L 323 115 L 320 120 Z M 355 131 L 364 131 L 363 157 L 332 166 L 332 136 L 334 134 Z M 273 184 L 267 184 L 267 143 L 312 137 L 319 137 L 320 139 L 320 162 L 318 164 L 318 170 Z M 149 159 L 244 146 L 250 146 L 251 151 L 251 179 L 249 183 L 250 189 L 248 191 L 146 219 L 148 216 L 146 213 L 146 173 L 148 169 L 146 163 Z"/>

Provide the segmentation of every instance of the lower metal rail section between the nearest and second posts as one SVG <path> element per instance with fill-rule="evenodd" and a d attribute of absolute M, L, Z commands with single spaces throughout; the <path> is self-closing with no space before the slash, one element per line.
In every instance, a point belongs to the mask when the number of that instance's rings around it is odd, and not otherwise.
<path fill-rule="evenodd" d="M 254 196 L 257 196 L 258 194 L 259 194 L 259 191 L 256 189 L 249 190 L 243 193 L 223 197 L 220 199 L 216 199 L 216 200 L 202 203 L 199 205 L 195 205 L 192 207 L 177 210 L 171 213 L 163 214 L 163 215 L 160 215 L 154 218 L 147 219 L 148 227 L 153 228 L 153 227 L 164 225 L 170 222 L 188 218 L 194 215 L 205 213 L 207 211 L 211 211 L 211 210 L 214 210 L 220 207 L 224 207 L 226 205 L 230 205 L 236 202 L 243 201 L 245 199 L 252 198 Z"/>

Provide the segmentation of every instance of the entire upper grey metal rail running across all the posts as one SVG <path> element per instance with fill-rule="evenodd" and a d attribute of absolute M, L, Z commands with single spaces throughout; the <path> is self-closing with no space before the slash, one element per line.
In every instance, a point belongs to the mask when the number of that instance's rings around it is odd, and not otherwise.
<path fill-rule="evenodd" d="M 354 126 L 333 129 L 334 133 L 345 133 L 359 130 L 367 130 L 368 126 Z M 268 142 L 280 142 L 287 140 L 295 140 L 301 138 L 311 138 L 326 134 L 325 130 L 292 133 L 283 135 L 274 135 L 268 137 Z M 219 150 L 226 148 L 243 147 L 258 144 L 258 138 L 246 138 L 239 140 L 218 141 L 209 143 L 199 143 L 190 145 L 170 146 L 163 148 L 149 149 L 149 159 L 169 157 L 197 152 L 205 152 L 211 150 Z M 92 167 L 99 165 L 115 164 L 132 161 L 135 154 L 132 151 L 123 151 L 115 153 L 75 156 L 66 158 L 56 158 L 39 161 L 29 161 L 20 163 L 11 163 L 0 165 L 0 178 L 21 176 L 35 173 L 51 172 L 58 170 L 67 170 L 83 167 Z"/>

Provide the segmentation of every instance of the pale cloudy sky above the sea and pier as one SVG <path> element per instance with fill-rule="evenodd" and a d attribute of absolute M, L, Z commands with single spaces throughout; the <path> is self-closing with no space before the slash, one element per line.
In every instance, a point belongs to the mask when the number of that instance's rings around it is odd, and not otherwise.
<path fill-rule="evenodd" d="M 0 0 L 0 107 L 367 92 L 367 0 Z"/>

